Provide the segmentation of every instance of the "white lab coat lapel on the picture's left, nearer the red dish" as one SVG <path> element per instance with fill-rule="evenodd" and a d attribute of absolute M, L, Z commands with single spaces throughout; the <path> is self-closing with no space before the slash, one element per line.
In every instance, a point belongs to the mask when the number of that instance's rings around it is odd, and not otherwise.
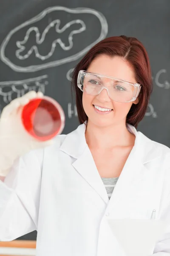
<path fill-rule="evenodd" d="M 60 150 L 75 158 L 72 166 L 84 178 L 95 192 L 108 204 L 108 195 L 102 179 L 94 163 L 91 151 L 85 140 L 86 125 L 82 124 L 68 134 L 60 146 Z"/>

